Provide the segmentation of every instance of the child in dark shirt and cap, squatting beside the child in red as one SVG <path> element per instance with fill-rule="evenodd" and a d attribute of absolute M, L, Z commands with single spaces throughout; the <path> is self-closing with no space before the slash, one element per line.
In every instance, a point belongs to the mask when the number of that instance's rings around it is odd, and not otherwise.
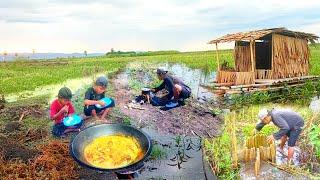
<path fill-rule="evenodd" d="M 101 99 L 105 98 L 105 91 L 108 81 L 105 77 L 99 77 L 94 83 L 93 87 L 88 88 L 85 93 L 84 100 L 84 114 L 86 116 L 93 116 L 97 119 L 107 121 L 106 115 L 109 113 L 110 108 L 114 107 L 114 101 L 111 99 L 111 104 L 105 106 L 105 102 Z M 99 108 L 97 105 L 100 105 Z"/>

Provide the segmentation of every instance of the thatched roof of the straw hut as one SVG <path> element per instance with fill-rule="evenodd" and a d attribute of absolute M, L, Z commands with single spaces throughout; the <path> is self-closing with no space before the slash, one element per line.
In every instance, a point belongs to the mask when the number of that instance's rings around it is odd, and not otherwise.
<path fill-rule="evenodd" d="M 315 40 L 319 38 L 315 34 L 290 31 L 286 28 L 272 28 L 272 29 L 261 29 L 261 30 L 249 31 L 249 32 L 239 32 L 235 34 L 227 34 L 218 39 L 210 41 L 209 44 L 232 42 L 232 41 L 258 40 L 272 33 L 281 34 L 281 35 L 290 36 L 290 37 L 296 37 L 300 39 L 307 39 L 310 42 L 315 42 Z"/>

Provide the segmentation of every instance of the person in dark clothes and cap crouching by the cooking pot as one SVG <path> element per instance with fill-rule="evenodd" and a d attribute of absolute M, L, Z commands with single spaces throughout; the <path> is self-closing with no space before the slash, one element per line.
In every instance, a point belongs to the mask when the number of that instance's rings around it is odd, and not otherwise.
<path fill-rule="evenodd" d="M 167 90 L 168 94 L 165 96 L 166 103 L 174 103 L 178 105 L 178 101 L 183 102 L 191 95 L 191 88 L 187 86 L 180 79 L 168 74 L 168 71 L 157 69 L 157 75 L 163 82 L 156 88 L 152 89 L 154 93 L 163 89 Z"/>

